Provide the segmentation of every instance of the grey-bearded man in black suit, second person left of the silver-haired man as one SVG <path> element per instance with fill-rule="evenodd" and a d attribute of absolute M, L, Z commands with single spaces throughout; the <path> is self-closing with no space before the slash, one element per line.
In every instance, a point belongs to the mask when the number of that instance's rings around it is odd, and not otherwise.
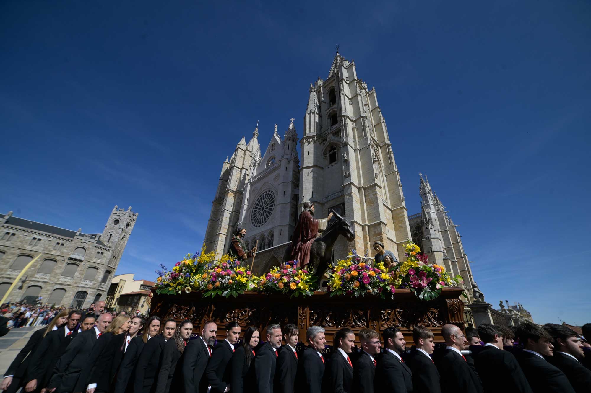
<path fill-rule="evenodd" d="M 255 376 L 256 392 L 273 393 L 273 381 L 275 379 L 275 369 L 277 350 L 281 347 L 281 326 L 269 325 L 265 329 L 265 342 L 256 351 L 255 358 L 252 359 L 252 368 Z"/>

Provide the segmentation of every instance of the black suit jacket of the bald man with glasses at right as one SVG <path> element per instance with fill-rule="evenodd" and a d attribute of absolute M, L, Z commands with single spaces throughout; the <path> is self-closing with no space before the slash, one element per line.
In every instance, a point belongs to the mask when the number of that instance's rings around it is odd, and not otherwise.
<path fill-rule="evenodd" d="M 446 349 L 439 360 L 441 392 L 443 393 L 482 393 L 482 385 L 475 372 L 462 355 Z"/>

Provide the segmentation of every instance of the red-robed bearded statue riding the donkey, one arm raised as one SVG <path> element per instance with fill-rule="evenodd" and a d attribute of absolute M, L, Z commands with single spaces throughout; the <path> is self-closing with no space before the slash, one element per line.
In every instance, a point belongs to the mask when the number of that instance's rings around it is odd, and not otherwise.
<path fill-rule="evenodd" d="M 314 218 L 314 204 L 312 202 L 304 202 L 304 210 L 298 218 L 296 229 L 291 237 L 291 257 L 297 260 L 301 267 L 305 267 L 310 263 L 310 248 L 312 243 L 318 235 L 318 232 L 326 230 L 330 218 L 333 214 L 330 212 L 329 217 L 323 220 L 316 220 Z"/>

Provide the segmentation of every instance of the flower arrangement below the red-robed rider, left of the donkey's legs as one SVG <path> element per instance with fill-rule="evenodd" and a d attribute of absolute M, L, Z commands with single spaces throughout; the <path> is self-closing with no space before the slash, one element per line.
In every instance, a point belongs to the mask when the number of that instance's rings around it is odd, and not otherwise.
<path fill-rule="evenodd" d="M 288 261 L 258 277 L 258 288 L 264 292 L 280 292 L 291 297 L 311 296 L 317 277 L 311 271 L 297 267 L 297 261 Z"/>

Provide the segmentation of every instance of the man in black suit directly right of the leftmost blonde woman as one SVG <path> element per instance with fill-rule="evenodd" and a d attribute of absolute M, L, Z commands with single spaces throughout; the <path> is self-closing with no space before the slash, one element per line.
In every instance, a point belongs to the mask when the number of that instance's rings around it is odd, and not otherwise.
<path fill-rule="evenodd" d="M 43 338 L 37 351 L 31 355 L 27 371 L 27 378 L 30 381 L 27 383 L 25 391 L 32 392 L 37 388 L 47 387 L 57 361 L 74 338 L 76 333 L 74 329 L 76 329 L 80 317 L 82 317 L 80 310 L 70 311 L 66 325 L 57 330 L 51 330 Z"/>

